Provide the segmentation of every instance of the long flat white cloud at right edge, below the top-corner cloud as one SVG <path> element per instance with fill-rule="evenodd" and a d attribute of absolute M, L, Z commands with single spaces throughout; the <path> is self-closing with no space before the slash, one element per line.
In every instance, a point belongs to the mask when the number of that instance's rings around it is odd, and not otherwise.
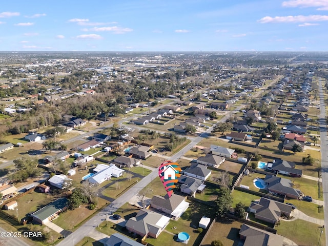
<path fill-rule="evenodd" d="M 260 23 L 290 23 L 290 22 L 323 22 L 328 20 L 328 15 L 297 15 L 297 16 L 265 16 L 258 20 Z"/>

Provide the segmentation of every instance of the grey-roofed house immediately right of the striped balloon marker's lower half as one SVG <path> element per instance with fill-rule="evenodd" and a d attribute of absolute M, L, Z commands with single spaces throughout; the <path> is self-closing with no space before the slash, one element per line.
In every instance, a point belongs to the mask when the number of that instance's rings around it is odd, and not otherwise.
<path fill-rule="evenodd" d="M 206 185 L 203 184 L 204 181 L 182 174 L 178 179 L 178 183 L 180 184 L 180 191 L 192 197 L 195 197 L 196 192 L 201 193 L 206 187 Z"/>

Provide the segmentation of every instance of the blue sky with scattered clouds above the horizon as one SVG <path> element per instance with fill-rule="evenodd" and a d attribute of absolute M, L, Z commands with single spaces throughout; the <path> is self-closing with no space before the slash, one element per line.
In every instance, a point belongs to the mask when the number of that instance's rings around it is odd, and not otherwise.
<path fill-rule="evenodd" d="M 328 0 L 18 0 L 0 8 L 2 51 L 328 51 L 327 30 Z"/>

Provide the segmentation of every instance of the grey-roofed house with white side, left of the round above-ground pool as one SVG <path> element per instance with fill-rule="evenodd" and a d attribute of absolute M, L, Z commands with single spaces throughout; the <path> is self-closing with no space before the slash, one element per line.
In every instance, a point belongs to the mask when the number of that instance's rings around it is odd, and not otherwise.
<path fill-rule="evenodd" d="M 135 233 L 141 238 L 157 238 L 170 222 L 170 217 L 141 209 L 135 217 L 132 217 L 126 223 L 126 228 L 131 233 Z"/>

